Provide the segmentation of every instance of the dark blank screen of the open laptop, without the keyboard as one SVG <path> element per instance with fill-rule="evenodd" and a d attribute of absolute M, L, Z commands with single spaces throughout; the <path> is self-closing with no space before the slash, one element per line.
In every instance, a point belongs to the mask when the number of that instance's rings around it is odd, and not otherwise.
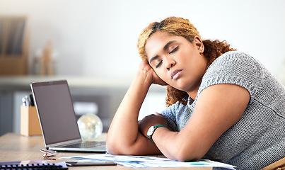
<path fill-rule="evenodd" d="M 45 144 L 80 139 L 67 81 L 32 83 Z"/>

